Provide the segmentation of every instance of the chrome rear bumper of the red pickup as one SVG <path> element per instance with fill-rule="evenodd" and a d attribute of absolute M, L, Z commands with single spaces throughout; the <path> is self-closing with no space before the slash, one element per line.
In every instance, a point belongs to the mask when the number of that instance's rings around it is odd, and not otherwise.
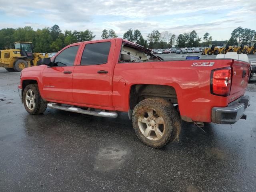
<path fill-rule="evenodd" d="M 242 96 L 228 104 L 227 107 L 212 108 L 212 122 L 217 124 L 234 124 L 239 119 L 246 119 L 244 111 L 249 106 L 250 97 Z"/>

